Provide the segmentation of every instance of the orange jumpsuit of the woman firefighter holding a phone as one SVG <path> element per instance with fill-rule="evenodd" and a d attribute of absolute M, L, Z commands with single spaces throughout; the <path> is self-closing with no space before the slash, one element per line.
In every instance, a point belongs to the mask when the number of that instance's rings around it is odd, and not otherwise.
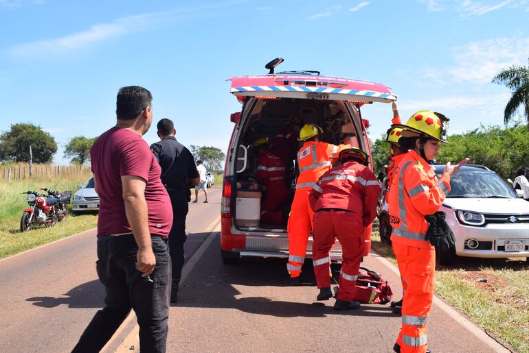
<path fill-rule="evenodd" d="M 409 151 L 394 171 L 390 186 L 392 245 L 405 291 L 402 330 L 397 343 L 401 352 L 426 352 L 426 321 L 434 296 L 435 248 L 425 240 L 425 215 L 437 212 L 450 191 L 450 175 L 440 180 L 431 165 Z"/>

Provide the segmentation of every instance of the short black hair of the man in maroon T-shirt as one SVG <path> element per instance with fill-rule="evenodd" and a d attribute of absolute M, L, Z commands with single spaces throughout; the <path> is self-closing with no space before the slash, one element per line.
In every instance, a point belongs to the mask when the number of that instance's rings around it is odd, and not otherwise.
<path fill-rule="evenodd" d="M 115 114 L 119 120 L 133 120 L 142 114 L 145 108 L 152 107 L 153 95 L 143 87 L 127 86 L 117 93 Z"/>

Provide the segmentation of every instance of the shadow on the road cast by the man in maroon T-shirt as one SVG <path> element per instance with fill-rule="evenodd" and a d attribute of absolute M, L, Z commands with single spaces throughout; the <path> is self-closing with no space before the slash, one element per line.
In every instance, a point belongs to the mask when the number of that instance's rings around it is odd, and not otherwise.
<path fill-rule="evenodd" d="M 55 308 L 61 304 L 69 308 L 102 308 L 104 306 L 104 287 L 99 280 L 80 284 L 65 295 L 65 297 L 30 297 L 26 301 L 43 308 Z"/>

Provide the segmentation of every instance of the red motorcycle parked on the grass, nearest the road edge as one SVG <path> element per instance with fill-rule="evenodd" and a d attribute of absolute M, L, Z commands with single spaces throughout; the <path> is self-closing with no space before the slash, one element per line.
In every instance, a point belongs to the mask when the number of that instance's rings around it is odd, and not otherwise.
<path fill-rule="evenodd" d="M 25 232 L 37 226 L 53 227 L 57 223 L 55 205 L 58 199 L 47 197 L 36 191 L 26 191 L 27 204 L 20 220 L 20 230 Z"/>

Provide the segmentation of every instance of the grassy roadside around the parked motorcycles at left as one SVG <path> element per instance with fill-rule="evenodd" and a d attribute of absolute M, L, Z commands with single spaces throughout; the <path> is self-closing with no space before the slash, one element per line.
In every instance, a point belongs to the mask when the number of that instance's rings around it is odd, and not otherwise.
<path fill-rule="evenodd" d="M 94 228 L 97 216 L 94 214 L 73 216 L 57 223 L 53 228 L 38 228 L 29 232 L 20 232 L 20 219 L 27 202 L 22 195 L 24 191 L 38 191 L 47 187 L 59 191 L 77 191 L 77 184 L 84 184 L 91 173 L 85 171 L 76 175 L 65 175 L 57 178 L 35 178 L 33 180 L 14 180 L 0 183 L 0 258 L 32 249 L 38 245 L 64 238 L 83 230 Z"/>

